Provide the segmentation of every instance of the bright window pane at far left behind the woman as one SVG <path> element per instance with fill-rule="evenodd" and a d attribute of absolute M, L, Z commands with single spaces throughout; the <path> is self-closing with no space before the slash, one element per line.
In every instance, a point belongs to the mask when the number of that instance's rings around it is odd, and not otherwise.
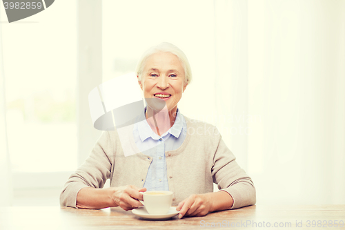
<path fill-rule="evenodd" d="M 1 24 L 14 189 L 35 186 L 42 175 L 61 188 L 54 173 L 77 167 L 77 9 L 68 3 Z"/>

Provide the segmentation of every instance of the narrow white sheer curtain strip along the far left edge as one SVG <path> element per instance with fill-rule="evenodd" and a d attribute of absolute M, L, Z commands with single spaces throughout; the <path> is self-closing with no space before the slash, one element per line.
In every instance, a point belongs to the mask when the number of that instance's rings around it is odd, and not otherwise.
<path fill-rule="evenodd" d="M 0 42 L 0 207 L 12 204 L 12 184 L 10 178 L 10 157 L 8 155 L 6 134 L 5 73 L 3 71 L 2 44 Z"/>

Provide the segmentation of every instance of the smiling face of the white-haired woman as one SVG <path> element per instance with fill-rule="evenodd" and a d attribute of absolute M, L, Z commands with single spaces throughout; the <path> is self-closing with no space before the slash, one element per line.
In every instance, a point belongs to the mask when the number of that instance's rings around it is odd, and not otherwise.
<path fill-rule="evenodd" d="M 184 67 L 176 55 L 157 52 L 146 60 L 139 84 L 145 98 L 164 100 L 168 111 L 176 112 L 177 103 L 187 87 Z"/>

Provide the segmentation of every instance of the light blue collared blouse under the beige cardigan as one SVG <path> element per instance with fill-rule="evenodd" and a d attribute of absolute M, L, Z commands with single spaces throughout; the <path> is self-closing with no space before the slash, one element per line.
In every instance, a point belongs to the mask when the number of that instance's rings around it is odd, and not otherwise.
<path fill-rule="evenodd" d="M 146 108 L 133 127 L 135 144 L 145 155 L 152 157 L 144 187 L 147 191 L 168 191 L 168 177 L 166 175 L 166 151 L 179 148 L 184 142 L 187 133 L 187 124 L 184 116 L 177 108 L 175 123 L 163 135 L 159 136 L 152 131 L 145 119 Z"/>

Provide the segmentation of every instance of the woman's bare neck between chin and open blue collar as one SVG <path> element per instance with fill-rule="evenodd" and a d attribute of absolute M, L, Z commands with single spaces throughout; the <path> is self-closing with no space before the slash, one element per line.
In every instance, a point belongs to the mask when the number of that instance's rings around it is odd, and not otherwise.
<path fill-rule="evenodd" d="M 170 111 L 168 111 L 166 106 L 161 111 L 155 111 L 147 106 L 145 115 L 152 131 L 160 136 L 166 133 L 166 131 L 174 125 L 177 115 L 177 106 Z"/>

